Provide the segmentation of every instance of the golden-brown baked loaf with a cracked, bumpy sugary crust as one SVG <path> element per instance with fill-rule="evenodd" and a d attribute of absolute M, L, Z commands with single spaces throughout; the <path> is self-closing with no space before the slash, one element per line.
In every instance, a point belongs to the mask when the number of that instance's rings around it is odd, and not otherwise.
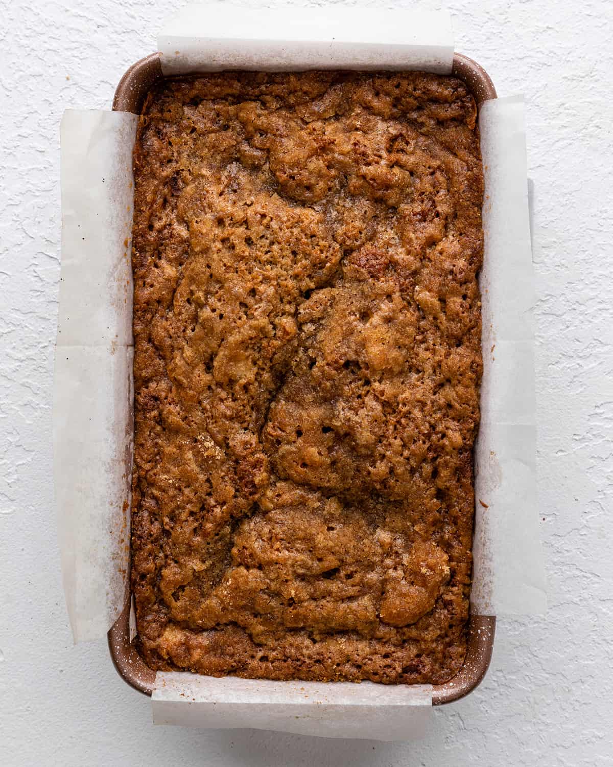
<path fill-rule="evenodd" d="M 167 80 L 135 150 L 132 584 L 155 669 L 441 683 L 466 650 L 474 100 Z"/>

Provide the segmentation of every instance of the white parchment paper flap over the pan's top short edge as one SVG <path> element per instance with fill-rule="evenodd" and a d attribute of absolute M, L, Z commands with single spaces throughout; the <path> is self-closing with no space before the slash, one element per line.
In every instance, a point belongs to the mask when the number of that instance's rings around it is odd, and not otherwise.
<path fill-rule="evenodd" d="M 166 23 L 158 50 L 165 74 L 382 67 L 447 74 L 454 36 L 446 11 L 197 2 Z"/>

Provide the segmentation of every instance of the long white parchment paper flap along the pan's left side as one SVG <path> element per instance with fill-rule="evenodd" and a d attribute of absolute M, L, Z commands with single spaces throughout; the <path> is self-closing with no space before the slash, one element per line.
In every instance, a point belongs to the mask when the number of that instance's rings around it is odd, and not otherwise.
<path fill-rule="evenodd" d="M 61 122 L 54 483 L 75 642 L 106 634 L 126 597 L 137 120 L 134 114 L 67 110 Z"/>

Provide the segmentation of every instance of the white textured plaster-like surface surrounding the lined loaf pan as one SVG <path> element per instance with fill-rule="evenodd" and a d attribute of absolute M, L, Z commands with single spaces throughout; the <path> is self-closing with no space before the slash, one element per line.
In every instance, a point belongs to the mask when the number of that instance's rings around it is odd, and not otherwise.
<path fill-rule="evenodd" d="M 320 0 L 323 2 L 323 0 Z M 51 481 L 64 107 L 110 107 L 181 0 L 0 10 L 0 753 L 7 765 L 613 764 L 613 3 L 451 0 L 456 50 L 526 94 L 545 619 L 499 621 L 477 692 L 415 743 L 154 728 L 102 640 L 73 647 Z M 267 3 L 274 5 L 274 2 Z M 379 3 L 379 5 L 384 5 Z M 392 5 L 392 3 L 385 3 Z M 437 3 L 396 0 L 407 7 Z M 513 286 L 509 286 L 513 289 Z"/>

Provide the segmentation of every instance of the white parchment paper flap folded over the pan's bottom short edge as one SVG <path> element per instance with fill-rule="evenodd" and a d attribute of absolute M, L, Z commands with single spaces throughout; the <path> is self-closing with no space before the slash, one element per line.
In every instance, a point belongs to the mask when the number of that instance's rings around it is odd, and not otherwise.
<path fill-rule="evenodd" d="M 215 679 L 158 673 L 153 722 L 251 727 L 324 738 L 421 738 L 431 719 L 430 685 Z"/>

